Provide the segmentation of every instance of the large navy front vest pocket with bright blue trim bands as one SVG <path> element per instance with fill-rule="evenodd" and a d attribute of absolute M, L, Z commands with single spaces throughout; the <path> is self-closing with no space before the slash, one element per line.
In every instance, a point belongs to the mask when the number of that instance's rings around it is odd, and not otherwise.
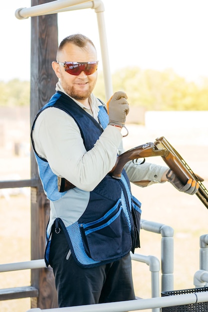
<path fill-rule="evenodd" d="M 95 261 L 122 257 L 132 248 L 132 238 L 120 199 L 103 217 L 80 223 L 79 228 L 85 251 Z"/>

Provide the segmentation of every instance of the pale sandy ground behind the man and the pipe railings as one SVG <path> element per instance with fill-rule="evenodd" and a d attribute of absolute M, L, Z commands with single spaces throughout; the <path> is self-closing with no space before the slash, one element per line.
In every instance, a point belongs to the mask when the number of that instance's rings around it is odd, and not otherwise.
<path fill-rule="evenodd" d="M 161 135 L 135 125 L 129 125 L 128 130 L 129 136 L 124 139 L 126 149 L 154 142 Z M 203 184 L 208 188 L 208 144 L 199 146 L 191 140 L 177 144 L 174 134 L 168 135 L 167 140 L 194 172 L 205 179 Z M 5 150 L 1 152 L 1 177 L 29 178 L 28 153 L 14 156 Z M 146 161 L 165 165 L 161 157 L 149 158 Z M 16 194 L 10 193 L 10 190 L 0 193 L 0 264 L 30 260 L 29 189 L 21 191 Z M 142 219 L 163 223 L 174 229 L 174 289 L 194 288 L 193 277 L 200 268 L 200 236 L 208 234 L 208 209 L 196 195 L 180 193 L 170 183 L 156 184 L 147 188 L 132 185 L 132 192 L 142 202 Z M 141 248 L 138 248 L 136 253 L 153 255 L 161 261 L 161 236 L 141 230 Z M 133 261 L 133 277 L 136 296 L 151 298 L 149 267 L 144 263 Z M 0 274 L 1 289 L 28 285 L 30 285 L 28 270 Z M 0 302 L 1 312 L 26 312 L 28 309 L 30 309 L 29 299 Z"/>

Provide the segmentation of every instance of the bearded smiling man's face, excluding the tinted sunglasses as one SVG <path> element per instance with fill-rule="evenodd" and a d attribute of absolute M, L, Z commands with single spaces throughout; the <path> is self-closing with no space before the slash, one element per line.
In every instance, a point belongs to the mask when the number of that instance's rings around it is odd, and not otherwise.
<path fill-rule="evenodd" d="M 63 50 L 58 53 L 59 62 L 94 62 L 97 61 L 97 52 L 90 44 L 83 48 L 73 43 L 67 43 Z M 96 81 L 97 71 L 92 75 L 86 75 L 82 71 L 78 76 L 71 75 L 64 70 L 64 67 L 56 62 L 52 63 L 56 76 L 60 79 L 64 91 L 78 101 L 86 100 L 92 93 Z"/>

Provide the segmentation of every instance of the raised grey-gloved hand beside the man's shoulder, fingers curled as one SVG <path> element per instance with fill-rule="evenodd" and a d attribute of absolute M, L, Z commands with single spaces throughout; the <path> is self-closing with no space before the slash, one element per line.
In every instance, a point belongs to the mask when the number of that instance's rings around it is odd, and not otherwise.
<path fill-rule="evenodd" d="M 126 115 L 129 113 L 129 104 L 125 92 L 118 91 L 110 98 L 107 103 L 109 115 L 109 125 L 124 127 Z"/>

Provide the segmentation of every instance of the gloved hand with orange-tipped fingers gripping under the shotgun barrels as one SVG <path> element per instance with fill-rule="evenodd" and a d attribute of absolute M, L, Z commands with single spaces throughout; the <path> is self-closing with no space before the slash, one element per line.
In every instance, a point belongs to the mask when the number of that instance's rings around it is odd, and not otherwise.
<path fill-rule="evenodd" d="M 180 192 L 185 192 L 190 195 L 194 195 L 199 190 L 199 182 L 193 179 L 189 179 L 187 184 L 183 184 L 176 174 L 170 169 L 166 174 L 168 181 L 176 187 Z"/>

